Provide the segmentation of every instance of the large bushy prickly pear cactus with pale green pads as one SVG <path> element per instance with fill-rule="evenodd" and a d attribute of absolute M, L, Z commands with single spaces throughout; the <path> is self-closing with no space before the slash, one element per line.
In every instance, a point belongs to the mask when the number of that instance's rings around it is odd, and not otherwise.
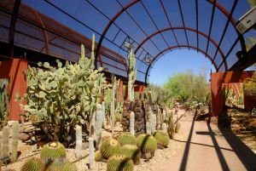
<path fill-rule="evenodd" d="M 64 145 L 73 140 L 77 124 L 88 123 L 90 114 L 96 111 L 105 84 L 102 67 L 95 70 L 94 37 L 91 58 L 85 57 L 81 45 L 79 62 L 66 62 L 57 67 L 48 62 L 38 63 L 41 68 L 28 67 L 28 87 L 23 105 L 26 116 L 48 135 L 49 140 L 60 140 Z"/>

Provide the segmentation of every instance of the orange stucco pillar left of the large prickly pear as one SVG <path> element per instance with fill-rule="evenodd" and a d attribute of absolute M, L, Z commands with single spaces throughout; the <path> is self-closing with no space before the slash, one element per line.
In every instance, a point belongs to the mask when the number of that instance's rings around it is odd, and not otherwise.
<path fill-rule="evenodd" d="M 0 78 L 10 80 L 9 120 L 20 120 L 20 104 L 15 94 L 26 94 L 27 60 L 13 59 L 0 62 Z"/>

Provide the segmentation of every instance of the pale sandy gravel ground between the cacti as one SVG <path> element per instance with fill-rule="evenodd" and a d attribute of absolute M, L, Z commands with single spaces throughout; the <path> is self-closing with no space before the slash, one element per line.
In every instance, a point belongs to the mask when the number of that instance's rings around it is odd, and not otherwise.
<path fill-rule="evenodd" d="M 110 127 L 106 127 L 110 130 Z M 17 162 L 10 163 L 7 166 L 2 166 L 2 171 L 10 171 L 15 170 L 19 171 L 22 165 L 30 158 L 32 157 L 38 157 L 40 158 L 40 151 L 42 150 L 42 146 L 46 143 L 44 141 L 39 141 L 39 148 L 38 145 L 35 144 L 34 138 L 30 137 L 29 134 L 24 134 L 28 132 L 32 132 L 35 128 L 32 127 L 30 123 L 26 123 L 24 126 L 24 130 L 20 131 L 20 139 L 26 139 L 27 140 L 19 140 L 19 146 L 18 151 L 20 151 L 20 156 L 18 157 Z M 121 125 L 118 124 L 115 128 L 114 136 L 117 137 L 118 134 L 122 133 Z M 22 133 L 23 132 L 23 133 Z M 26 137 L 26 135 L 28 135 Z M 112 133 L 108 132 L 107 130 L 102 130 L 102 138 L 103 140 L 108 139 L 112 136 Z M 0 132 L 0 138 L 2 140 L 2 132 Z M 10 137 L 11 138 L 11 137 Z M 30 138 L 30 139 L 28 139 Z M 169 145 L 165 149 L 157 149 L 154 152 L 154 157 L 152 157 L 150 160 L 148 159 L 141 159 L 140 164 L 135 165 L 134 170 L 157 170 L 159 166 L 162 163 L 165 163 L 170 159 L 174 154 L 177 153 L 178 149 L 182 145 L 181 142 L 177 140 L 183 140 L 182 134 L 175 134 L 175 140 L 170 140 Z M 32 143 L 32 144 L 31 144 Z M 9 146 L 11 148 L 11 146 Z M 83 157 L 81 159 L 77 159 L 75 157 L 75 150 L 70 148 L 67 149 L 67 160 L 68 162 L 72 162 L 76 165 L 78 171 L 84 171 L 89 170 L 88 163 L 89 163 L 89 148 L 88 148 L 88 142 L 83 143 Z M 96 162 L 96 170 L 107 170 L 107 161 L 105 162 Z"/>

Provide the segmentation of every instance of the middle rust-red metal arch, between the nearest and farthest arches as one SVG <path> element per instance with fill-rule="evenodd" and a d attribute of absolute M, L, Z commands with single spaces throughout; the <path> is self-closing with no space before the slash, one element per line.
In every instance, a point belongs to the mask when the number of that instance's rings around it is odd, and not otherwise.
<path fill-rule="evenodd" d="M 148 39 L 150 39 L 151 37 L 154 37 L 155 35 L 160 34 L 160 32 L 163 32 L 163 31 L 172 31 L 172 30 L 178 30 L 178 29 L 179 29 L 179 30 L 183 29 L 183 30 L 188 30 L 188 31 L 194 31 L 194 32 L 199 33 L 199 34 L 202 35 L 203 37 L 206 37 L 207 39 L 209 39 L 209 40 L 214 44 L 214 46 L 215 46 L 216 48 L 218 48 L 218 51 L 219 51 L 219 53 L 221 54 L 222 59 L 224 60 L 224 57 L 225 57 L 225 56 L 224 56 L 224 53 L 223 53 L 222 49 L 218 47 L 218 43 L 216 43 L 216 42 L 212 39 L 212 37 L 209 37 L 206 33 L 202 32 L 202 31 L 197 31 L 197 30 L 194 29 L 194 28 L 190 28 L 190 27 L 180 27 L 180 26 L 178 26 L 178 27 L 169 27 L 169 28 L 165 28 L 165 29 L 162 29 L 162 30 L 160 30 L 160 31 L 156 31 L 156 32 L 154 32 L 153 34 L 149 35 L 147 38 L 145 38 L 145 39 L 143 40 L 142 43 L 140 43 L 140 44 L 138 45 L 138 47 L 137 47 L 136 50 L 134 51 L 134 54 L 137 54 L 138 49 L 141 48 L 141 47 L 143 46 L 143 44 L 146 43 L 146 42 L 148 41 Z M 228 70 L 228 66 L 227 66 L 227 63 L 226 63 L 225 60 L 224 60 L 224 66 L 225 66 L 225 70 L 227 71 L 227 70 Z"/>

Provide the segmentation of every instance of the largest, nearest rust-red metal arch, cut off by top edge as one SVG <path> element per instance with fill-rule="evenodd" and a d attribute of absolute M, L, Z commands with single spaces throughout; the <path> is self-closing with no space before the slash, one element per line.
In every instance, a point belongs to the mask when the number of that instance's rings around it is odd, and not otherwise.
<path fill-rule="evenodd" d="M 140 1 L 141 1 L 141 0 L 133 0 L 133 1 L 131 1 L 130 3 L 127 3 L 124 8 L 120 9 L 119 12 L 117 12 L 117 13 L 113 16 L 113 18 L 112 18 L 111 20 L 109 20 L 108 25 L 105 27 L 104 31 L 102 32 L 102 37 L 100 38 L 99 43 L 97 44 L 97 48 L 96 48 L 96 60 L 95 60 L 95 66 L 96 66 L 96 67 L 97 67 L 97 62 L 96 62 L 96 61 L 97 61 L 97 58 L 98 58 L 97 56 L 98 56 L 99 51 L 100 51 L 100 48 L 101 48 L 101 46 L 102 46 L 103 38 L 106 36 L 106 34 L 107 34 L 107 32 L 108 32 L 108 29 L 110 28 L 110 26 L 112 26 L 113 22 L 114 22 L 117 18 L 119 18 L 119 15 L 120 15 L 120 14 L 123 14 L 123 12 L 125 12 L 126 9 L 129 9 L 132 5 L 134 5 L 134 4 L 136 4 L 136 3 L 140 2 Z M 215 2 L 215 3 L 214 3 L 214 0 L 207 0 L 207 2 L 208 2 L 208 3 L 212 3 L 212 5 L 215 5 L 227 18 L 229 18 L 229 16 L 230 16 L 229 11 L 228 11 L 227 9 L 225 9 L 221 4 L 219 4 L 218 2 Z M 231 24 L 232 24 L 232 25 L 235 27 L 235 29 L 236 29 L 236 20 L 235 20 L 233 17 L 231 17 L 231 18 L 230 18 L 230 22 L 231 22 Z M 238 31 L 236 31 L 236 33 L 237 33 L 238 36 L 240 36 L 240 34 L 239 34 Z M 243 51 L 245 51 L 246 46 L 245 46 L 244 38 L 243 38 L 243 37 L 240 37 L 239 39 L 240 39 L 240 43 L 241 43 L 241 48 L 242 48 Z"/>

